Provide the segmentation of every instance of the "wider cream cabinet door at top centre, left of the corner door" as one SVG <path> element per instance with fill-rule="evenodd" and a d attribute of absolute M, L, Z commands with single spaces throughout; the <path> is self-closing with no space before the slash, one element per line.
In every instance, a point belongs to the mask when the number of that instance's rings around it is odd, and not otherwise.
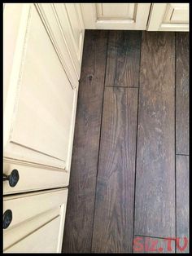
<path fill-rule="evenodd" d="M 151 3 L 81 3 L 85 29 L 146 29 Z"/>

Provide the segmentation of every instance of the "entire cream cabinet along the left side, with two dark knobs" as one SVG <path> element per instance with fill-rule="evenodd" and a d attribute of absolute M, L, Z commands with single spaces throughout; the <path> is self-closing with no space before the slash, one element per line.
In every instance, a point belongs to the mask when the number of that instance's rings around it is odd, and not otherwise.
<path fill-rule="evenodd" d="M 84 31 L 78 4 L 3 5 L 4 253 L 61 252 Z"/>

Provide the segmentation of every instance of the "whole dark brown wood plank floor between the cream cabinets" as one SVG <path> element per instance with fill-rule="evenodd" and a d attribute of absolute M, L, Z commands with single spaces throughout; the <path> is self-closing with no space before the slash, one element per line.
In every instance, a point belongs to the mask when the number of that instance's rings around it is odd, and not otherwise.
<path fill-rule="evenodd" d="M 63 253 L 187 251 L 188 155 L 188 33 L 87 30 Z"/>

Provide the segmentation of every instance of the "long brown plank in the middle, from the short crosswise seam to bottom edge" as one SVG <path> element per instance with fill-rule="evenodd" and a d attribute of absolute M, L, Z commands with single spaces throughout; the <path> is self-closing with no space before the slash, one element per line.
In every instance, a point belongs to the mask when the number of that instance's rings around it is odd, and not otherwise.
<path fill-rule="evenodd" d="M 105 87 L 92 252 L 131 252 L 137 88 Z"/>

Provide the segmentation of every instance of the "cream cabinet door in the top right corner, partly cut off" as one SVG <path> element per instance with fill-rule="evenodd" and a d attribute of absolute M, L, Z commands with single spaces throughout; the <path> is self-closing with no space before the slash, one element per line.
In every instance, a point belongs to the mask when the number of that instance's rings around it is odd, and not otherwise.
<path fill-rule="evenodd" d="M 189 3 L 153 3 L 148 31 L 189 31 Z"/>

